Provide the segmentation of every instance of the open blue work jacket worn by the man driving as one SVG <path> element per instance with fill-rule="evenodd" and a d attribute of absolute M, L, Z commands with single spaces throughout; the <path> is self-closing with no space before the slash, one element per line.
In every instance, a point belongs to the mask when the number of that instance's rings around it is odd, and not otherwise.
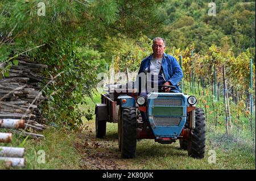
<path fill-rule="evenodd" d="M 144 70 L 150 65 L 151 58 L 152 54 L 142 60 L 138 74 L 144 72 Z M 176 90 L 180 91 L 177 83 L 179 83 L 181 81 L 181 78 L 183 78 L 183 71 L 180 68 L 179 62 L 176 60 L 175 57 L 171 56 L 170 54 L 164 53 L 162 67 L 166 81 L 171 82 L 171 84 L 176 87 Z"/>

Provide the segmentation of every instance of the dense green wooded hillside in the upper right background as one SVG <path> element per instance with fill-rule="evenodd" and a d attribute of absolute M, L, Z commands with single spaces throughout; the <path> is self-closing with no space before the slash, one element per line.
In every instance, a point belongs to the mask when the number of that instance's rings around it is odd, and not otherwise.
<path fill-rule="evenodd" d="M 216 16 L 209 16 L 209 2 L 168 1 L 162 9 L 163 35 L 170 46 L 185 49 L 195 44 L 196 52 L 206 52 L 212 44 L 221 45 L 229 37 L 236 56 L 255 47 L 255 2 L 233 1 L 216 3 Z"/>

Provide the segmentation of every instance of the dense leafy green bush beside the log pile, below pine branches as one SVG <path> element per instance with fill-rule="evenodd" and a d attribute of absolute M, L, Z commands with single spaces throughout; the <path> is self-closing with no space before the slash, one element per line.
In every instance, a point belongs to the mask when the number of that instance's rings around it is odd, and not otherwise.
<path fill-rule="evenodd" d="M 67 128 L 80 129 L 82 116 L 88 113 L 78 109 L 85 103 L 85 96 L 92 94 L 96 83 L 96 66 L 89 64 L 77 50 L 77 40 L 61 41 L 61 46 L 40 54 L 41 60 L 51 60 L 52 70 L 48 76 L 57 75 L 55 81 L 46 87 L 49 100 L 44 104 L 44 115 L 51 121 L 57 121 Z M 56 56 L 57 55 L 57 56 Z M 91 115 L 91 114 L 90 114 Z"/>

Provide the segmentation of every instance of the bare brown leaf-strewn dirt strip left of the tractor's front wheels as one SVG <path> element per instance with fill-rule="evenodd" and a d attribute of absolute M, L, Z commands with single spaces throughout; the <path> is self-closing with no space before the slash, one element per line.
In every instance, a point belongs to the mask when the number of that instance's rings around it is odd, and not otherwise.
<path fill-rule="evenodd" d="M 81 169 L 127 169 L 126 160 L 121 159 L 118 150 L 118 134 L 96 139 L 94 128 L 93 123 L 89 123 L 89 128 L 78 134 L 80 141 L 75 143 L 82 157 Z"/>

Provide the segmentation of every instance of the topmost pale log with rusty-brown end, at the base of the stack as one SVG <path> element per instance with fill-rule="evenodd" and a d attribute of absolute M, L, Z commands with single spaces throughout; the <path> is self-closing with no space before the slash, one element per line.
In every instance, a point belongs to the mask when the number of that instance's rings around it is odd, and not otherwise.
<path fill-rule="evenodd" d="M 0 119 L 0 128 L 25 128 L 24 119 Z"/>

